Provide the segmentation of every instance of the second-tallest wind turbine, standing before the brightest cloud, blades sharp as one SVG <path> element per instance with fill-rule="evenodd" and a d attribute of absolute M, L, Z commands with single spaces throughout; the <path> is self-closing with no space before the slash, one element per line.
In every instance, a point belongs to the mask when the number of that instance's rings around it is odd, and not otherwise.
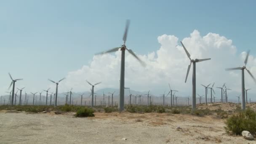
<path fill-rule="evenodd" d="M 191 63 L 193 63 L 193 75 L 192 75 L 192 110 L 196 109 L 196 73 L 195 73 L 195 64 L 196 62 L 200 62 L 200 61 L 207 61 L 210 59 L 191 59 L 190 58 L 190 54 L 187 51 L 187 49 L 185 48 L 185 46 L 183 45 L 183 43 L 181 42 L 182 47 L 184 48 L 185 52 L 187 53 L 188 58 L 190 59 L 190 64 L 187 68 L 187 75 L 186 75 L 186 80 L 185 83 L 187 82 L 187 76 L 189 75 L 189 69 L 191 67 Z"/>

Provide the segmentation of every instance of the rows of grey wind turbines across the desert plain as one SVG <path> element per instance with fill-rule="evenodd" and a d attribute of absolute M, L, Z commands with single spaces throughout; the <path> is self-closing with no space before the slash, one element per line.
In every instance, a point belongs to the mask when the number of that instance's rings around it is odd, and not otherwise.
<path fill-rule="evenodd" d="M 104 51 L 104 52 L 101 52 L 101 53 L 96 53 L 96 55 L 102 55 L 102 54 L 105 54 L 105 53 L 112 53 L 112 52 L 119 51 L 119 50 L 121 51 L 120 94 L 119 94 L 119 102 L 118 102 L 118 104 L 119 104 L 118 107 L 119 107 L 119 111 L 120 112 L 122 112 L 124 110 L 124 104 L 125 104 L 124 103 L 124 101 L 125 101 L 125 97 L 124 97 L 124 90 L 125 90 L 125 50 L 127 50 L 132 56 L 134 56 L 134 58 L 136 58 L 141 63 L 141 65 L 143 67 L 146 66 L 146 64 L 141 59 L 139 59 L 139 57 L 136 56 L 136 54 L 131 49 L 128 49 L 126 47 L 126 45 L 125 45 L 126 40 L 127 40 L 127 35 L 128 35 L 129 24 L 130 24 L 130 21 L 127 20 L 126 21 L 126 26 L 125 26 L 125 32 L 124 32 L 124 35 L 123 35 L 123 45 L 121 45 L 120 47 L 112 48 L 112 49 L 110 49 L 108 51 Z M 181 42 L 181 45 L 184 48 L 184 51 L 185 51 L 185 53 L 187 54 L 187 56 L 188 56 L 188 58 L 190 60 L 190 64 L 189 64 L 189 66 L 187 68 L 187 75 L 186 75 L 185 83 L 187 82 L 187 77 L 189 75 L 189 70 L 190 70 L 191 64 L 193 64 L 193 67 L 192 67 L 192 110 L 195 110 L 196 109 L 196 63 L 197 62 L 201 62 L 201 61 L 207 61 L 207 60 L 210 60 L 211 58 L 208 58 L 208 59 L 191 59 L 189 52 L 187 51 L 187 49 L 185 48 L 185 46 L 184 46 L 184 44 L 182 42 Z M 244 70 L 246 70 L 249 73 L 249 75 L 253 78 L 253 80 L 256 82 L 256 80 L 253 77 L 253 75 L 251 74 L 251 72 L 246 68 L 246 64 L 247 64 L 247 61 L 248 61 L 248 56 L 249 56 L 249 51 L 247 52 L 247 55 L 246 55 L 246 58 L 245 58 L 245 62 L 244 62 L 245 65 L 243 67 L 235 67 L 235 68 L 226 69 L 226 70 L 237 70 L 237 69 L 242 70 L 242 109 L 243 110 L 245 110 Z M 10 75 L 10 77 L 11 77 L 11 75 Z M 13 91 L 12 91 L 12 96 L 11 96 L 11 105 L 13 105 L 15 83 L 16 83 L 17 80 L 22 80 L 22 79 L 15 79 L 15 80 L 13 80 L 12 77 L 11 77 L 11 79 L 12 79 L 11 85 L 13 85 Z M 59 82 L 61 82 L 64 79 L 65 78 L 59 80 L 58 82 L 55 82 L 53 80 L 48 79 L 52 83 L 56 84 L 56 93 L 55 93 L 55 100 L 54 100 L 54 106 L 55 107 L 57 106 L 58 85 L 59 85 Z M 91 88 L 91 106 L 93 107 L 93 98 L 94 98 L 94 94 L 95 94 L 94 93 L 94 86 L 100 84 L 101 82 L 96 83 L 94 85 L 92 85 L 88 81 L 87 81 L 87 83 L 92 86 L 92 88 Z M 11 87 L 11 85 L 10 85 L 10 87 Z M 207 85 L 207 86 L 203 85 L 203 86 L 205 87 L 205 103 L 207 104 L 207 90 L 209 88 L 209 85 Z M 212 91 L 214 92 L 214 90 L 212 88 L 213 88 L 213 86 L 211 87 L 211 92 Z M 218 87 L 218 88 L 221 88 L 221 102 L 223 102 L 223 96 L 222 96 L 223 87 Z M 229 90 L 229 88 L 226 88 L 226 91 L 227 90 Z M 169 93 L 171 93 L 171 95 L 170 95 L 171 96 L 171 105 L 173 105 L 173 102 L 174 102 L 174 96 L 172 95 L 173 91 L 175 91 L 175 90 L 172 90 L 171 87 L 170 87 L 170 92 Z M 36 93 L 32 93 L 32 94 L 35 96 Z M 226 94 L 227 94 L 227 92 L 226 92 Z M 47 95 L 48 95 L 48 91 L 47 91 L 46 97 L 47 97 Z M 72 95 L 72 92 L 70 91 L 69 103 L 71 101 L 71 95 Z M 112 93 L 112 95 L 113 95 L 113 93 Z M 148 95 L 148 99 L 149 99 L 149 93 L 147 95 Z M 162 96 L 163 96 L 163 104 L 165 104 L 165 100 L 164 100 L 164 98 L 166 96 L 165 93 Z M 200 99 L 201 99 L 201 96 L 200 96 Z M 226 96 L 226 101 L 227 101 L 227 96 Z M 212 95 L 211 95 L 211 102 L 212 102 Z M 147 102 L 147 105 L 149 105 L 149 100 Z"/>

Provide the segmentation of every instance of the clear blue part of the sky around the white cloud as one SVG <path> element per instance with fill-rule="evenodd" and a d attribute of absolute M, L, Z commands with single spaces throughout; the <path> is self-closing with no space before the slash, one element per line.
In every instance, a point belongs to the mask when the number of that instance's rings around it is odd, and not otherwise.
<path fill-rule="evenodd" d="M 232 40 L 238 54 L 251 49 L 253 55 L 255 4 L 254 0 L 1 0 L 0 89 L 5 91 L 11 83 L 8 72 L 26 80 L 18 87 L 46 88 L 48 78 L 57 81 L 92 61 L 94 53 L 120 46 L 126 19 L 131 20 L 127 46 L 141 55 L 160 48 L 160 35 L 181 40 L 194 29 L 201 35 L 223 35 Z"/>

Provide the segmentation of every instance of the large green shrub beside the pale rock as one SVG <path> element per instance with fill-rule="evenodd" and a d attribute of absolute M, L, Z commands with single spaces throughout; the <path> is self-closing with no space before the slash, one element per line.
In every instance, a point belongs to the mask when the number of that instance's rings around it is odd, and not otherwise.
<path fill-rule="evenodd" d="M 246 109 L 244 112 L 238 112 L 232 115 L 225 122 L 224 127 L 227 133 L 241 135 L 242 131 L 249 131 L 256 134 L 256 112 L 252 109 Z"/>

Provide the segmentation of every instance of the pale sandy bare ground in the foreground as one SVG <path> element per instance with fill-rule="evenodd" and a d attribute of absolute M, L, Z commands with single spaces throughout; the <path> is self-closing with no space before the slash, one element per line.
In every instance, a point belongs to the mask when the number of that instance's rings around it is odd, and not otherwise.
<path fill-rule="evenodd" d="M 76 118 L 0 112 L 1 144 L 256 144 L 242 136 L 229 136 L 224 120 L 214 116 L 100 113 Z M 177 130 L 180 126 L 182 129 Z M 122 140 L 126 138 L 127 140 Z"/>

